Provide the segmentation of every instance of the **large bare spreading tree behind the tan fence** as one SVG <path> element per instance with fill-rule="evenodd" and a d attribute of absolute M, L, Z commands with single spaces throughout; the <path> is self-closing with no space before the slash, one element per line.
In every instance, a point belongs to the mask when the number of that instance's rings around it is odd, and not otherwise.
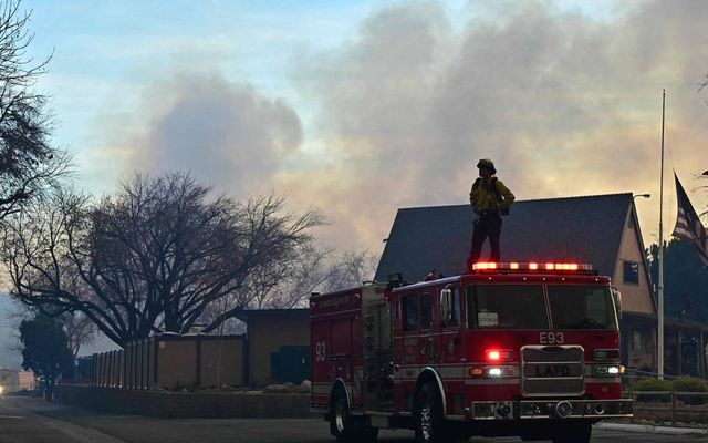
<path fill-rule="evenodd" d="M 251 276 L 295 256 L 323 217 L 284 213 L 273 195 L 239 204 L 210 193 L 187 174 L 135 175 L 95 203 L 59 193 L 4 229 L 12 293 L 50 313 L 83 312 L 121 346 L 187 332 L 228 300 L 207 324 L 217 328 L 248 306 Z"/>

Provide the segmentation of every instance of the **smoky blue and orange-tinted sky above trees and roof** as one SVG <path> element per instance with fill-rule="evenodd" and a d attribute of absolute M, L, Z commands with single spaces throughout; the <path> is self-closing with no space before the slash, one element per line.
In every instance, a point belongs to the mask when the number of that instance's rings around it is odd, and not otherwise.
<path fill-rule="evenodd" d="M 379 253 L 397 208 L 467 203 L 490 157 L 520 199 L 652 193 L 648 243 L 663 89 L 666 231 L 671 168 L 687 189 L 708 169 L 706 1 L 27 4 L 33 51 L 55 49 L 38 86 L 92 190 L 190 169 L 315 205 L 323 243 Z"/>

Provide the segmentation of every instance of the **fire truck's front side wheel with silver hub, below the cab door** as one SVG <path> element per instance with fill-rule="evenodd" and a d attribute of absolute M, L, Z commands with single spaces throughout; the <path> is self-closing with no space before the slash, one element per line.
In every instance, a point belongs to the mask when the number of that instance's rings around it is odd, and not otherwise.
<path fill-rule="evenodd" d="M 414 425 L 417 443 L 447 443 L 450 436 L 445 432 L 442 399 L 433 383 L 426 383 L 416 398 Z"/>

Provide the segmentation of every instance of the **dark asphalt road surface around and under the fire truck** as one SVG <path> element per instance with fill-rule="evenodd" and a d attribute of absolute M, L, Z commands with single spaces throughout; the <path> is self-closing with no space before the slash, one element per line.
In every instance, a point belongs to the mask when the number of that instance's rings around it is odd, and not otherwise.
<path fill-rule="evenodd" d="M 412 443 L 409 431 L 382 431 L 379 442 Z M 659 435 L 594 430 L 593 442 L 706 442 L 708 435 Z M 331 443 L 321 420 L 184 420 L 106 415 L 44 403 L 39 399 L 0 400 L 0 443 Z M 510 443 L 519 439 L 479 439 Z"/>

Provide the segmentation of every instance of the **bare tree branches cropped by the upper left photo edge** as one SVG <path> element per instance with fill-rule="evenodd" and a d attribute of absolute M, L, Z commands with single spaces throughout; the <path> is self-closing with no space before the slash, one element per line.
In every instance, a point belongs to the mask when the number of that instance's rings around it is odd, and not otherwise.
<path fill-rule="evenodd" d="M 33 35 L 20 1 L 0 4 L 0 220 L 44 195 L 69 172 L 70 157 L 49 142 L 46 97 L 31 91 L 49 58 L 27 58 Z"/>

